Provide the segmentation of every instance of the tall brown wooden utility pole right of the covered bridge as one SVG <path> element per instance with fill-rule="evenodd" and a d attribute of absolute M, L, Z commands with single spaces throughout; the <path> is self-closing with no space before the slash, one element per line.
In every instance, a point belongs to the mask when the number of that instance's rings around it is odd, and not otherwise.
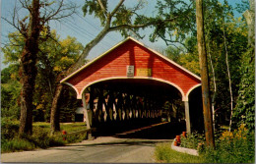
<path fill-rule="evenodd" d="M 197 45 L 201 69 L 203 111 L 207 146 L 215 147 L 213 118 L 211 110 L 209 73 L 204 35 L 203 0 L 196 0 Z"/>

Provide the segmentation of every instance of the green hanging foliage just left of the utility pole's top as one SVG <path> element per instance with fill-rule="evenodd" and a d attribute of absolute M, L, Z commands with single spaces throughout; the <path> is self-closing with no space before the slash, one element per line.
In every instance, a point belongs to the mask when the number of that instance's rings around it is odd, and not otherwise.
<path fill-rule="evenodd" d="M 196 31 L 194 5 L 193 1 L 158 1 L 156 6 L 158 15 L 154 18 L 156 22 L 159 20 L 173 20 L 155 26 L 153 33 L 150 35 L 151 41 L 161 38 L 166 44 L 182 44 L 188 34 Z"/>

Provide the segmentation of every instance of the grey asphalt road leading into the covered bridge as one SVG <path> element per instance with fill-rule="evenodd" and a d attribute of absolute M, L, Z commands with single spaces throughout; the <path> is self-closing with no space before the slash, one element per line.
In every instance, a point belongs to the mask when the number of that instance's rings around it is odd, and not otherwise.
<path fill-rule="evenodd" d="M 176 126 L 155 124 L 112 136 L 98 135 L 66 146 L 1 154 L 1 162 L 19 163 L 155 163 L 158 142 L 172 141 Z"/>

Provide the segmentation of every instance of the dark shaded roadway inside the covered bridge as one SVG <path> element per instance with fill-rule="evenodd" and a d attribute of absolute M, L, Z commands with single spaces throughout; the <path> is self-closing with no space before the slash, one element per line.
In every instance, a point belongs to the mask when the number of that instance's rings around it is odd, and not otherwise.
<path fill-rule="evenodd" d="M 108 124 L 97 128 L 95 137 L 120 137 L 144 139 L 172 139 L 186 131 L 185 123 L 160 121 L 130 121 L 119 124 Z"/>

